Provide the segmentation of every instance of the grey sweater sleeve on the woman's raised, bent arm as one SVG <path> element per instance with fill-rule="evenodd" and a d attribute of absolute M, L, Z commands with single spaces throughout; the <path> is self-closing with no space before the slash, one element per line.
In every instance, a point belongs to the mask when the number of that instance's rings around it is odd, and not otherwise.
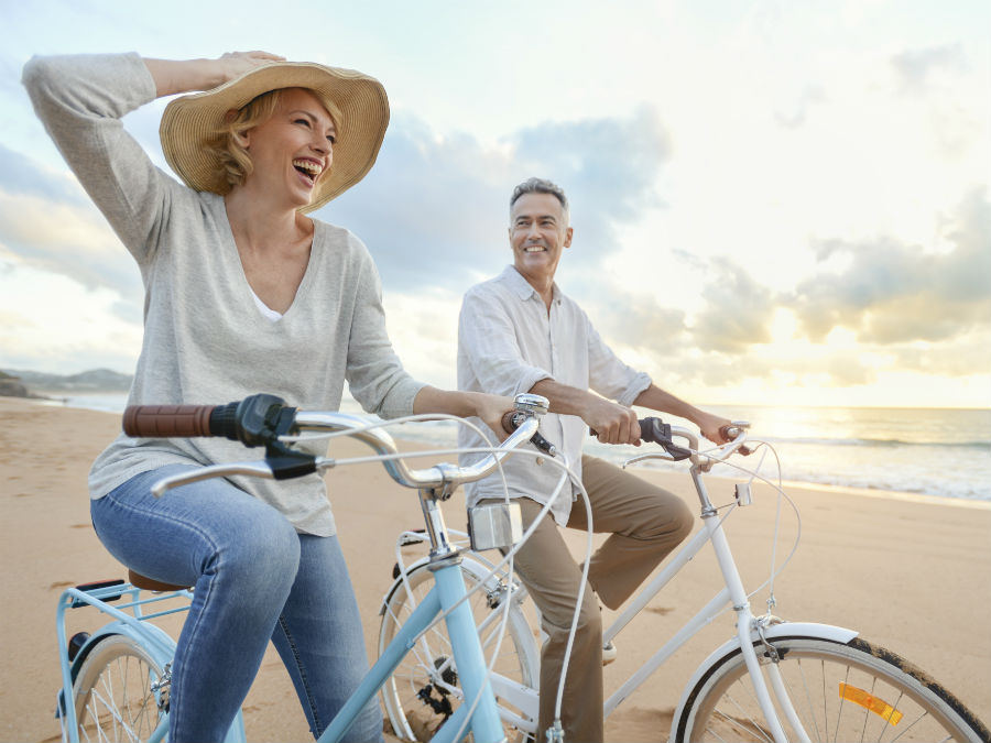
<path fill-rule="evenodd" d="M 155 98 L 137 54 L 35 56 L 22 81 L 69 168 L 140 264 L 178 184 L 124 131 L 121 118 Z M 171 184 L 171 186 L 170 186 Z"/>

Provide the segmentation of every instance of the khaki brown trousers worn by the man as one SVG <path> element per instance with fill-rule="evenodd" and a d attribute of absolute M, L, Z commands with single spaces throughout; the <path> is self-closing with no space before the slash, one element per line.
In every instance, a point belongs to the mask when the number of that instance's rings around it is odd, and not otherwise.
<path fill-rule="evenodd" d="M 625 601 L 641 582 L 691 532 L 694 516 L 677 495 L 596 457 L 581 458 L 581 480 L 591 501 L 596 533 L 611 533 L 589 562 L 578 631 L 568 662 L 562 699 L 567 743 L 603 740 L 602 619 L 600 600 L 610 609 Z M 541 504 L 519 499 L 527 528 Z M 585 503 L 578 499 L 568 527 L 587 528 Z M 541 711 L 537 740 L 554 722 L 557 685 L 575 612 L 581 568 L 548 515 L 516 553 L 515 570 L 541 610 L 547 642 L 541 652 Z M 592 592 L 595 591 L 595 593 Z M 596 599 L 598 594 L 598 600 Z"/>

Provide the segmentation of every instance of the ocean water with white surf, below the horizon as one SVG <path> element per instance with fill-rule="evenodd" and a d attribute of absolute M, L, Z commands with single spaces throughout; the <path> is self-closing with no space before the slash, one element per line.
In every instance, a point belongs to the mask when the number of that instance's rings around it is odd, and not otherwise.
<path fill-rule="evenodd" d="M 126 395 L 68 397 L 70 407 L 122 412 Z M 347 398 L 341 409 L 360 413 Z M 706 409 L 751 423 L 751 435 L 777 451 L 782 479 L 872 491 L 896 491 L 991 501 L 991 409 L 887 407 L 708 406 Z M 669 423 L 684 424 L 675 418 Z M 406 424 L 392 434 L 423 444 L 453 447 L 456 424 Z M 589 439 L 588 454 L 621 463 L 644 447 L 608 446 Z M 737 459 L 756 463 L 758 457 Z M 684 469 L 660 460 L 642 467 Z M 769 455 L 762 474 L 773 473 Z M 716 468 L 714 474 L 733 474 Z"/>

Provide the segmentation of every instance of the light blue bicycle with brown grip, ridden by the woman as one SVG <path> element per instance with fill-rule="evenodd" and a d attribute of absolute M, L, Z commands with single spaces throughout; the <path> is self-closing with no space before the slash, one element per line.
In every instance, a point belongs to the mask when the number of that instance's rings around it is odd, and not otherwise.
<path fill-rule="evenodd" d="M 217 407 L 131 407 L 124 414 L 124 430 L 131 436 L 227 436 L 247 446 L 265 447 L 262 461 L 217 465 L 183 472 L 156 483 L 152 489 L 155 495 L 207 478 L 240 474 L 281 480 L 346 463 L 306 455 L 287 446 L 287 441 L 305 431 L 351 436 L 374 449 L 377 456 L 370 459 L 381 461 L 400 484 L 420 491 L 435 584 L 380 653 L 379 660 L 319 740 L 342 740 L 360 710 L 375 697 L 417 640 L 443 616 L 465 703 L 432 740 L 437 743 L 457 741 L 470 732 L 475 741 L 484 742 L 503 740 L 504 733 L 467 601 L 469 594 L 459 567 L 460 550 L 449 539 L 438 503 L 448 499 L 459 484 L 491 474 L 499 460 L 514 448 L 534 438 L 540 441 L 536 430 L 540 417 L 546 411 L 544 397 L 519 395 L 515 413 L 511 414 L 513 425 L 519 427 L 488 457 L 471 467 L 436 465 L 423 470 L 407 468 L 391 436 L 363 418 L 342 413 L 297 411 L 282 405 L 281 400 L 271 395 L 253 395 L 240 403 Z M 507 423 L 507 429 L 510 428 Z M 348 463 L 355 461 L 358 460 L 348 460 Z M 470 523 L 476 549 L 509 547 L 519 537 L 519 511 L 509 504 L 489 506 Z M 153 620 L 187 611 L 192 596 L 182 587 L 163 586 L 134 573 L 131 573 L 130 582 L 90 583 L 63 592 L 56 622 L 62 662 L 57 714 L 64 741 L 166 740 L 175 642 Z M 84 607 L 96 609 L 109 621 L 92 634 L 78 633 L 68 638 L 66 612 Z M 240 713 L 227 740 L 244 740 Z"/>

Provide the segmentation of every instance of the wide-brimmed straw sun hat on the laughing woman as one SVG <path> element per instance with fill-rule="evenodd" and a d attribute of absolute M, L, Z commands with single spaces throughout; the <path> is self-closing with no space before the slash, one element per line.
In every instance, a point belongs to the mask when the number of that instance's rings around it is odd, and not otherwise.
<path fill-rule="evenodd" d="M 165 160 L 187 186 L 226 193 L 224 166 L 213 146 L 228 111 L 276 88 L 308 88 L 330 108 L 337 129 L 334 163 L 317 181 L 313 211 L 361 181 L 371 170 L 389 125 L 385 89 L 353 69 L 311 62 L 274 62 L 255 67 L 213 90 L 176 98 L 165 107 L 159 135 Z"/>

